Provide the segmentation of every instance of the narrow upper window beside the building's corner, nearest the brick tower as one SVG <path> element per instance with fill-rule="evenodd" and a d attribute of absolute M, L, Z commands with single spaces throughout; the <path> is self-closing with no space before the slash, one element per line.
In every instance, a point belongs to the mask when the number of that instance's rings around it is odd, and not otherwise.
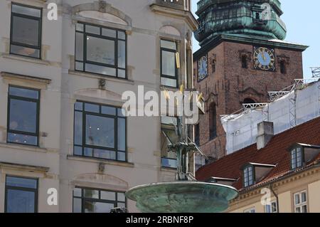
<path fill-rule="evenodd" d="M 175 42 L 161 40 L 161 85 L 178 87 L 176 53 Z"/>

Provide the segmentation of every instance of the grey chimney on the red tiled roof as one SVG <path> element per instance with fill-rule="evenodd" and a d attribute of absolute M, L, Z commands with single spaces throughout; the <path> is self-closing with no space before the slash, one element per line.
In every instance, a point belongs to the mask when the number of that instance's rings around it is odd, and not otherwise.
<path fill-rule="evenodd" d="M 273 122 L 261 122 L 257 125 L 257 149 L 267 146 L 274 136 Z"/>

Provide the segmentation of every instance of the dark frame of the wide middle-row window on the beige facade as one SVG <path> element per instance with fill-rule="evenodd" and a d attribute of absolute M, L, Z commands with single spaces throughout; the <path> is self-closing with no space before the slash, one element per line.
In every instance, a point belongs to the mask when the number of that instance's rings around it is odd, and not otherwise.
<path fill-rule="evenodd" d="M 127 151 L 127 127 L 128 127 L 128 124 L 127 124 L 127 117 L 122 117 L 122 116 L 119 116 L 118 114 L 118 110 L 119 109 L 122 109 L 121 107 L 115 107 L 115 106 L 112 106 L 112 105 L 105 105 L 105 104 L 99 104 L 99 103 L 95 103 L 95 102 L 86 102 L 86 101 L 81 101 L 81 100 L 77 100 L 75 102 L 75 104 L 77 102 L 80 102 L 82 103 L 82 110 L 76 110 L 75 109 L 75 105 L 74 105 L 74 108 L 73 108 L 73 155 L 76 156 L 76 157 L 85 157 L 85 158 L 92 158 L 92 159 L 102 159 L 102 160 L 110 160 L 110 161 L 114 161 L 114 162 L 128 162 L 128 151 Z M 98 105 L 99 106 L 99 112 L 100 113 L 97 113 L 97 112 L 88 112 L 88 111 L 85 111 L 85 104 L 91 104 L 91 105 Z M 114 110 L 116 111 L 116 114 L 115 115 L 107 115 L 107 114 L 102 114 L 102 107 L 112 107 L 114 108 Z M 82 112 L 82 144 L 81 145 L 78 145 L 78 144 L 75 144 L 75 112 Z M 85 116 L 86 115 L 92 115 L 92 116 L 97 116 L 97 117 L 107 117 L 107 118 L 112 118 L 114 119 L 114 148 L 112 147 L 100 147 L 100 146 L 95 146 L 95 145 L 87 145 L 86 144 L 86 120 L 85 120 Z M 124 139 L 124 142 L 125 142 L 125 151 L 120 151 L 118 149 L 118 119 L 121 118 L 121 119 L 124 119 L 124 122 L 125 122 L 125 139 Z M 82 148 L 82 155 L 78 155 L 78 154 L 75 154 L 75 147 L 81 147 Z M 95 153 L 92 152 L 92 157 L 90 156 L 85 156 L 85 148 L 90 148 L 90 149 L 102 149 L 102 150 L 105 150 L 105 151 L 112 151 L 112 152 L 115 152 L 115 155 L 116 155 L 116 159 L 104 159 L 104 158 L 101 158 L 101 157 L 95 157 Z M 124 153 L 125 154 L 125 160 L 119 160 L 118 159 L 118 153 Z"/>

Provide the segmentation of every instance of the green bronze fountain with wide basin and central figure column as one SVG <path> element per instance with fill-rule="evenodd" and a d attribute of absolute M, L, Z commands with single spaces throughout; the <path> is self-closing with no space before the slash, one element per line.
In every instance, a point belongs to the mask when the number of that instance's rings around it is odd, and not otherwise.
<path fill-rule="evenodd" d="M 183 97 L 184 98 L 184 97 Z M 126 197 L 137 202 L 143 213 L 218 213 L 228 209 L 230 200 L 238 196 L 231 186 L 215 184 L 212 181 L 196 181 L 189 171 L 191 152 L 201 149 L 188 137 L 185 117 L 178 117 L 176 134 L 178 142 L 168 140 L 168 149 L 176 152 L 176 181 L 135 186 L 126 192 Z"/>

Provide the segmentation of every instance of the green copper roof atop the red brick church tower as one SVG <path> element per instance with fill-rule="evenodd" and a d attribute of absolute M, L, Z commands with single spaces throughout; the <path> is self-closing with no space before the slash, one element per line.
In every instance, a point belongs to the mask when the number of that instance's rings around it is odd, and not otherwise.
<path fill-rule="evenodd" d="M 287 29 L 280 19 L 278 0 L 201 0 L 196 39 L 201 46 L 220 34 L 242 34 L 284 40 Z"/>

